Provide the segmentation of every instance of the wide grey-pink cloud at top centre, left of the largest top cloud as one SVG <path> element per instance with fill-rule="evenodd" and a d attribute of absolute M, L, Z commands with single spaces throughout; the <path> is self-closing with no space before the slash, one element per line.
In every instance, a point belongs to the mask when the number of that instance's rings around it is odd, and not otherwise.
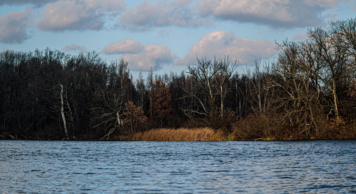
<path fill-rule="evenodd" d="M 192 0 L 175 0 L 172 2 L 147 0 L 124 11 L 119 24 L 130 30 L 148 30 L 152 27 L 189 26 L 197 27 L 210 24 L 199 18 Z"/>

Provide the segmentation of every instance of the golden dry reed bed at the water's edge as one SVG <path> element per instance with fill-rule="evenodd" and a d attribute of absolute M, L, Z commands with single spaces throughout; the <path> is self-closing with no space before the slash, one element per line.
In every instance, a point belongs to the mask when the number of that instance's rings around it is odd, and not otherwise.
<path fill-rule="evenodd" d="M 133 141 L 221 141 L 225 140 L 221 131 L 204 128 L 151 129 L 133 134 Z"/>

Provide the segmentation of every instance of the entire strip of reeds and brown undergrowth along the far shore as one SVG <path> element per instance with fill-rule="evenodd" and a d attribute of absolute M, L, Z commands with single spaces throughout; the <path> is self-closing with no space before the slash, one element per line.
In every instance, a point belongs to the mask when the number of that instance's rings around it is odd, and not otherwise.
<path fill-rule="evenodd" d="M 218 124 L 199 121 L 185 122 L 181 126 L 157 128 L 118 128 L 107 138 L 105 133 L 89 131 L 69 140 L 129 140 L 129 141 L 220 141 L 220 140 L 316 140 L 316 139 L 356 139 L 356 122 L 344 120 L 317 120 L 316 129 L 305 129 L 297 119 L 281 122 L 281 115 L 255 114 L 239 120 L 225 120 Z M 58 130 L 59 131 L 59 130 Z M 41 134 L 43 132 L 38 132 Z M 107 133 L 107 132 L 106 132 Z M 63 135 L 16 135 L 0 133 L 0 139 L 63 140 Z M 104 138 L 103 138 L 104 137 Z"/>

